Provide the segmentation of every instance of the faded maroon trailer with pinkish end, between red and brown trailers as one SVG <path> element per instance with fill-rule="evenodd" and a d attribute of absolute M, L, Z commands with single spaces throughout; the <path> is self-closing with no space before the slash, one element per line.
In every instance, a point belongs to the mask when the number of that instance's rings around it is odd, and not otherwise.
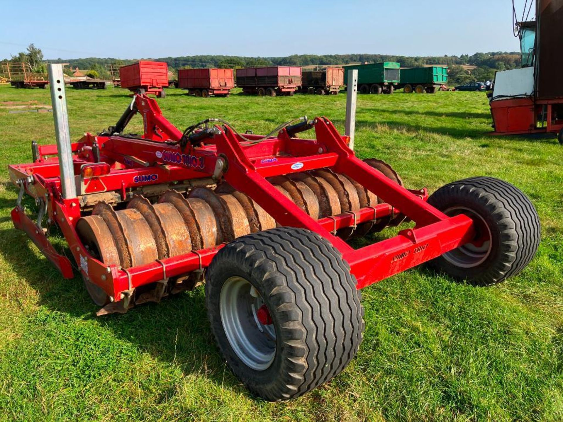
<path fill-rule="evenodd" d="M 300 66 L 236 69 L 236 86 L 258 96 L 293 95 L 301 86 Z"/>

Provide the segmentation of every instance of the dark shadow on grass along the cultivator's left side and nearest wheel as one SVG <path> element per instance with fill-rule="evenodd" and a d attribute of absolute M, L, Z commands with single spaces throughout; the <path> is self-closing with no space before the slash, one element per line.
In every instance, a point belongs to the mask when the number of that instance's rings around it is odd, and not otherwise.
<path fill-rule="evenodd" d="M 54 237 L 57 246 L 64 244 L 62 237 Z M 160 303 L 142 304 L 124 315 L 96 317 L 99 308 L 91 302 L 80 276 L 64 279 L 47 259 L 38 257 L 23 231 L 0 230 L 0 238 L 0 254 L 15 275 L 37 291 L 39 306 L 78 320 L 96 319 L 96 324 L 111 330 L 117 338 L 177 366 L 186 375 L 204 375 L 217 385 L 245 391 L 221 360 L 209 329 L 202 287 L 164 298 Z M 64 254 L 75 266 L 68 248 Z"/>

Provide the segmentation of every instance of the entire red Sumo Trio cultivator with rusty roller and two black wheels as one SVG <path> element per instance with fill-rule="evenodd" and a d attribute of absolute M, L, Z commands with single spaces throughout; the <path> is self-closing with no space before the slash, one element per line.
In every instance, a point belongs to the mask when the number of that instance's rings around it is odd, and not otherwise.
<path fill-rule="evenodd" d="M 126 134 L 136 113 L 145 132 Z M 309 129 L 314 139 L 296 136 Z M 99 313 L 158 302 L 205 279 L 211 330 L 231 370 L 258 396 L 294 398 L 358 352 L 358 289 L 428 261 L 493 284 L 538 248 L 537 213 L 509 183 L 473 177 L 427 197 L 403 187 L 383 161 L 356 158 L 347 142 L 324 117 L 266 136 L 221 119 L 180 132 L 155 100 L 137 94 L 115 126 L 68 152 L 33 143 L 33 163 L 10 166 L 20 188 L 12 220 L 70 278 L 72 264 L 43 219 L 60 228 Z M 63 161 L 74 170 L 73 197 Z M 40 205 L 36 222 L 24 213 L 24 194 Z M 346 243 L 403 221 L 414 224 L 389 239 Z"/>

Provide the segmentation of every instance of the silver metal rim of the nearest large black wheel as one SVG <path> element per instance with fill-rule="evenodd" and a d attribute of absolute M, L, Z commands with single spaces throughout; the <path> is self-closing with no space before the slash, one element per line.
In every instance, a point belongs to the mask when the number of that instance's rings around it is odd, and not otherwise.
<path fill-rule="evenodd" d="M 264 304 L 258 291 L 243 277 L 225 281 L 219 298 L 221 323 L 236 356 L 257 371 L 270 367 L 276 354 L 274 325 L 263 325 L 257 311 Z"/>

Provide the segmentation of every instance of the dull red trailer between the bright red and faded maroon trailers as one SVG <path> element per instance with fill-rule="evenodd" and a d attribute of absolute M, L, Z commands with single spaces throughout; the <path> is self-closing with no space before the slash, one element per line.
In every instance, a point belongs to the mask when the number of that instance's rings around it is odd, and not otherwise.
<path fill-rule="evenodd" d="M 228 97 L 235 87 L 233 69 L 180 69 L 178 88 L 196 97 Z"/>

